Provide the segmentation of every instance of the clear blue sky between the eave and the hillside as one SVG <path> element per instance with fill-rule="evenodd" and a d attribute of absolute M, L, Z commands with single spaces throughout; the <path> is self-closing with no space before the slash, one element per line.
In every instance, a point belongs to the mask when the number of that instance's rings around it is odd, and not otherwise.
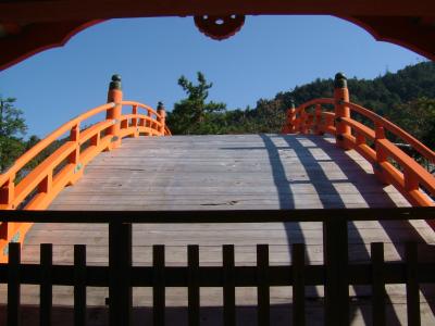
<path fill-rule="evenodd" d="M 184 97 L 178 77 L 201 71 L 213 82 L 210 99 L 235 109 L 338 71 L 374 78 L 422 60 L 330 16 L 248 16 L 224 41 L 200 34 L 191 17 L 113 20 L 0 72 L 0 93 L 17 99 L 28 135 L 42 137 L 102 104 L 113 73 L 125 99 L 171 110 Z"/>

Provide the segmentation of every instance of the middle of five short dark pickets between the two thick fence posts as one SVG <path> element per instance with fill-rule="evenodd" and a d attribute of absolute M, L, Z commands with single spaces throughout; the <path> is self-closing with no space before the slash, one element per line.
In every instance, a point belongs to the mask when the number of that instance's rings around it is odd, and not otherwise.
<path fill-rule="evenodd" d="M 222 246 L 224 325 L 236 325 L 236 292 L 234 273 L 234 244 Z"/>

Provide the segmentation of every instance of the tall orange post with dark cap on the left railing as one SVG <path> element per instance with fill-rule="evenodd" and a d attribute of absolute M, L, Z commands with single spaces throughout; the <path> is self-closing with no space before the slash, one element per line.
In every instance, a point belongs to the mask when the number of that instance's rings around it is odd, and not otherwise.
<path fill-rule="evenodd" d="M 112 136 L 112 145 L 111 149 L 119 148 L 121 146 L 121 115 L 122 115 L 122 102 L 123 92 L 121 88 L 121 76 L 113 75 L 112 82 L 109 84 L 109 92 L 108 92 L 108 103 L 113 102 L 114 106 L 109 109 L 105 114 L 107 120 L 113 121 L 113 125 L 108 128 L 109 135 Z"/>

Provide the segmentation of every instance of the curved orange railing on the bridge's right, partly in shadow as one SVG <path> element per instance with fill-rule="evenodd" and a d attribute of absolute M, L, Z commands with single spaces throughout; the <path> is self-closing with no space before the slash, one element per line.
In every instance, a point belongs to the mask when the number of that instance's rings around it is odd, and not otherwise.
<path fill-rule="evenodd" d="M 334 135 L 338 147 L 360 153 L 373 165 L 377 178 L 391 184 L 412 205 L 435 205 L 435 176 L 387 136 L 403 141 L 432 166 L 435 152 L 388 120 L 351 103 L 343 74 L 335 76 L 334 98 L 288 109 L 283 133 Z"/>

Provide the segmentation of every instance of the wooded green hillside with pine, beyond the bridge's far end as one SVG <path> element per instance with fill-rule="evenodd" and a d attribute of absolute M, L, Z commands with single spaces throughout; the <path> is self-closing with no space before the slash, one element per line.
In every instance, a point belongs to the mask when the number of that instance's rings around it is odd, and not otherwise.
<path fill-rule="evenodd" d="M 189 83 L 189 87 L 184 87 Z M 247 134 L 278 133 L 285 111 L 320 97 L 332 97 L 333 79 L 315 79 L 293 90 L 278 92 L 274 99 L 260 99 L 256 108 L 231 110 L 224 103 L 207 103 L 212 84 L 198 73 L 198 85 L 182 77 L 178 84 L 187 98 L 176 103 L 169 114 L 174 134 Z M 183 86 L 184 85 L 184 86 Z M 352 102 L 386 116 L 423 140 L 435 146 L 435 63 L 422 62 L 397 73 L 374 79 L 349 78 Z"/>

